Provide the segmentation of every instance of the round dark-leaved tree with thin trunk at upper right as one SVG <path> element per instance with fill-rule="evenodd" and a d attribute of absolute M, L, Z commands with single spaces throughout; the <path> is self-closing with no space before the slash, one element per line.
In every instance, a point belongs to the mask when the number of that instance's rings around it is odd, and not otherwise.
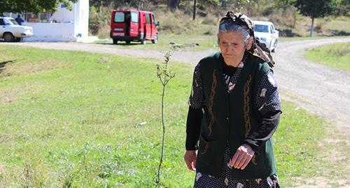
<path fill-rule="evenodd" d="M 334 0 L 296 0 L 294 5 L 302 15 L 311 17 L 311 37 L 314 36 L 314 19 L 331 15 L 335 10 Z"/>

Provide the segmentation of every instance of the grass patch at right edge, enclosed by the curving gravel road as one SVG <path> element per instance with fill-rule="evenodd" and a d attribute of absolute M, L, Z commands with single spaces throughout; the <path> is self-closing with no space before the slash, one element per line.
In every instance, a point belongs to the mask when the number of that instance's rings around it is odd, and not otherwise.
<path fill-rule="evenodd" d="M 313 62 L 350 71 L 350 43 L 337 43 L 312 48 L 304 54 Z"/>

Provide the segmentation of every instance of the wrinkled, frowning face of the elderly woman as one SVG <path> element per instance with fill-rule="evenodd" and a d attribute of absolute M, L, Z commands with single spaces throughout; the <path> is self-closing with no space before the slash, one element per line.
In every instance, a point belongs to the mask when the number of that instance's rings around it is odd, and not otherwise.
<path fill-rule="evenodd" d="M 221 50 L 223 58 L 225 59 L 225 62 L 230 64 L 237 64 L 241 62 L 244 52 L 248 47 L 248 45 L 244 43 L 241 33 L 223 31 L 218 33 L 218 46 Z"/>

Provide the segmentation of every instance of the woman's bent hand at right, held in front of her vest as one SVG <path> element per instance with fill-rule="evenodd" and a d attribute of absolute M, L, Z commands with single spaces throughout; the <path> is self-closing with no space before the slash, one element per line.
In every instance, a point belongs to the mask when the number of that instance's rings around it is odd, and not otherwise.
<path fill-rule="evenodd" d="M 232 157 L 232 160 L 228 163 L 230 168 L 235 167 L 243 170 L 248 165 L 251 158 L 254 156 L 254 151 L 247 144 L 238 147 L 237 152 Z"/>

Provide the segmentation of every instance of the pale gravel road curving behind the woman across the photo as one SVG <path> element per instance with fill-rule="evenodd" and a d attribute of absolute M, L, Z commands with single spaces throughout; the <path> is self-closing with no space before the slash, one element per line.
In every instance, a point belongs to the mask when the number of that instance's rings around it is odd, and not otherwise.
<path fill-rule="evenodd" d="M 321 40 L 279 43 L 273 53 L 276 62 L 274 73 L 279 82 L 282 99 L 293 101 L 311 113 L 324 117 L 334 126 L 350 134 L 350 73 L 309 62 L 302 57 L 308 49 L 330 43 L 350 42 L 350 38 L 327 38 Z M 163 59 L 165 51 L 130 50 L 111 44 L 85 43 L 1 43 L 55 50 L 78 50 L 107 53 L 130 57 L 154 57 Z M 200 52 L 173 52 L 178 62 L 197 64 L 214 50 Z M 349 59 L 350 61 L 350 59 Z M 344 130 L 345 129 L 345 130 Z"/>

